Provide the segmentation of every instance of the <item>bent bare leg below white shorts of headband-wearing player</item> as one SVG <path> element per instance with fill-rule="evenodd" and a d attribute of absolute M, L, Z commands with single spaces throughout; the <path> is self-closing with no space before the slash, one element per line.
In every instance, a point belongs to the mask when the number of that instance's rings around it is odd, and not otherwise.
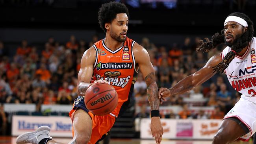
<path fill-rule="evenodd" d="M 228 144 L 247 134 L 249 129 L 240 120 L 237 120 L 223 120 L 219 130 L 214 135 L 212 144 Z"/>

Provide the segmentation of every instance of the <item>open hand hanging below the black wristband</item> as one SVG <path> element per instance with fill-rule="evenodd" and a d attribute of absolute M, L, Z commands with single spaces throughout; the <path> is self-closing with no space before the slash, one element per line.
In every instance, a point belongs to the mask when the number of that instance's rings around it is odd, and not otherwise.
<path fill-rule="evenodd" d="M 155 137 L 156 143 L 160 144 L 162 140 L 162 135 L 163 135 L 163 126 L 162 126 L 160 117 L 154 116 L 151 118 L 150 129 L 151 129 L 152 137 Z"/>

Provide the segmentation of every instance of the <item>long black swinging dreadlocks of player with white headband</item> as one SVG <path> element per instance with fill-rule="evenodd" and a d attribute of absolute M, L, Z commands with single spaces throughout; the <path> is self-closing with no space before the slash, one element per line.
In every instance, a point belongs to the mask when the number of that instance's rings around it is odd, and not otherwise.
<path fill-rule="evenodd" d="M 223 71 L 228 67 L 229 63 L 236 56 L 236 53 L 241 52 L 245 46 L 248 46 L 250 40 L 252 39 L 252 35 L 254 33 L 253 22 L 244 13 L 231 13 L 228 16 L 236 16 L 236 17 L 243 18 L 248 24 L 248 29 L 245 33 L 243 33 L 243 35 L 241 35 L 241 37 L 235 40 L 235 42 L 231 46 L 232 51 L 226 54 L 222 62 L 219 63 L 217 66 L 212 67 L 213 73 L 214 72 L 223 73 Z M 197 51 L 201 50 L 203 52 L 209 52 L 212 48 L 216 48 L 219 44 L 222 44 L 224 42 L 225 44 L 227 44 L 225 41 L 224 30 L 221 31 L 221 34 L 215 33 L 211 37 L 211 41 L 208 38 L 204 38 L 204 39 L 206 39 L 206 42 L 204 42 L 203 40 L 199 41 L 201 45 L 197 48 Z"/>

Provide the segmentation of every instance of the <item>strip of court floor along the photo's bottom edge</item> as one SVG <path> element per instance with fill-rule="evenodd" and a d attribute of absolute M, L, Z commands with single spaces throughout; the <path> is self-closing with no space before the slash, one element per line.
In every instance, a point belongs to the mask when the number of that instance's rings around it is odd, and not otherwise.
<path fill-rule="evenodd" d="M 0 137 L 0 144 L 16 144 L 16 137 Z M 70 142 L 70 138 L 54 138 L 58 142 L 67 144 Z M 154 140 L 140 140 L 140 139 L 111 139 L 110 144 L 156 144 Z M 211 141 L 205 140 L 162 140 L 161 144 L 211 144 Z M 236 141 L 232 144 L 252 144 L 252 140 L 249 142 Z"/>

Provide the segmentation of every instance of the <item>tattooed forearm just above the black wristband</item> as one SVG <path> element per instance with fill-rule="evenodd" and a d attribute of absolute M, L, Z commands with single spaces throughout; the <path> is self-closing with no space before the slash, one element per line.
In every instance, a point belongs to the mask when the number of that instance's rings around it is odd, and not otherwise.
<path fill-rule="evenodd" d="M 147 84 L 147 96 L 151 110 L 159 110 L 160 100 L 158 99 L 158 86 L 155 73 L 148 74 L 145 78 Z"/>

